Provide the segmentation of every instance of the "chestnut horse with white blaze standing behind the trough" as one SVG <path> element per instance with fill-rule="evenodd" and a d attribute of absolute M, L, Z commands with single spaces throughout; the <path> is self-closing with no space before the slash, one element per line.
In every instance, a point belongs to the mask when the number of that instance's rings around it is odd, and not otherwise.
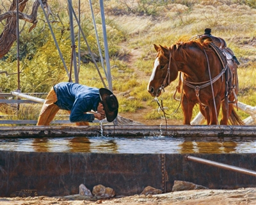
<path fill-rule="evenodd" d="M 195 38 L 169 48 L 155 44 L 154 47 L 157 56 L 148 92 L 152 96 L 160 96 L 164 87 L 177 79 L 180 73 L 178 91 L 181 93 L 184 125 L 190 125 L 196 104 L 199 104 L 207 125 L 219 124 L 220 110 L 220 125 L 244 125 L 233 107 L 237 102 L 238 92 L 238 61 L 235 56 L 227 59 L 227 55 L 223 55 L 212 38 Z M 228 51 L 233 54 L 232 50 Z"/>

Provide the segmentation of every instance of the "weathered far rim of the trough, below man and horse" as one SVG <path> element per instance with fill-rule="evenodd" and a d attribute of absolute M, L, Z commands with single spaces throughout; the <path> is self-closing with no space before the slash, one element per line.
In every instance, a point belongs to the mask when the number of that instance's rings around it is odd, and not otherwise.
<path fill-rule="evenodd" d="M 225 126 L 225 125 L 170 125 L 167 129 L 159 126 L 145 125 L 103 125 L 102 133 L 100 126 L 1 126 L 0 137 L 70 137 L 70 136 L 118 136 L 118 137 L 145 137 L 145 136 L 168 136 L 168 137 L 193 137 L 211 139 L 236 139 L 241 140 L 256 138 L 255 126 Z"/>

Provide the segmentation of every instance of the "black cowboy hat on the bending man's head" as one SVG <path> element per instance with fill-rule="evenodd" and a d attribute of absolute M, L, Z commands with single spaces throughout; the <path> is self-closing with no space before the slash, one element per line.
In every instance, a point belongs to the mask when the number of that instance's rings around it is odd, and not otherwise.
<path fill-rule="evenodd" d="M 118 100 L 109 89 L 100 88 L 99 92 L 106 118 L 109 122 L 112 122 L 118 114 Z"/>

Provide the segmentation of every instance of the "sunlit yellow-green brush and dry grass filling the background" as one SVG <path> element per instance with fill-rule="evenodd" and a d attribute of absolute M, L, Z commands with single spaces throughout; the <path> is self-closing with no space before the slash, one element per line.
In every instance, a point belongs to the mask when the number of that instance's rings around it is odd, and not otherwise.
<path fill-rule="evenodd" d="M 0 15 L 8 11 L 11 1 L 0 4 Z M 29 11 L 33 1 L 28 2 Z M 71 40 L 69 17 L 66 1 L 48 0 L 52 15 L 49 17 L 54 35 L 67 66 L 70 65 Z M 78 13 L 78 1 L 73 2 Z M 104 53 L 102 22 L 99 1 L 93 1 L 93 12 L 99 34 L 100 49 Z M 227 46 L 236 54 L 240 62 L 239 101 L 256 105 L 256 3 L 250 0 L 223 1 L 104 1 L 108 47 L 111 65 L 113 92 L 120 103 L 119 113 L 141 114 L 141 119 L 160 119 L 163 114 L 157 110 L 157 103 L 147 92 L 147 84 L 156 56 L 153 43 L 170 46 L 180 36 L 204 34 L 205 27 L 212 29 L 212 35 L 225 39 Z M 38 9 L 36 27 L 20 20 L 20 87 L 22 93 L 47 93 L 56 82 L 68 81 L 68 75 L 58 50 L 46 24 L 42 9 Z M 1 21 L 0 33 L 6 25 Z M 92 22 L 92 13 L 88 1 L 81 1 L 81 26 L 90 45 L 90 49 L 99 56 L 99 47 Z M 78 45 L 78 26 L 74 25 Z M 103 87 L 95 65 L 87 55 L 88 47 L 81 38 L 81 59 L 89 63 L 80 63 L 79 83 L 88 86 Z M 84 60 L 85 62 L 85 60 Z M 100 72 L 104 76 L 101 63 Z M 17 47 L 0 59 L 0 87 L 3 93 L 17 89 Z M 106 81 L 107 82 L 107 81 Z M 173 100 L 177 82 L 166 87 L 160 97 L 166 112 L 173 113 L 179 102 Z M 40 107 L 33 113 L 40 112 Z M 198 110 L 195 110 L 196 115 Z M 242 118 L 248 115 L 238 112 Z M 182 110 L 169 119 L 180 121 Z M 36 118 L 34 116 L 33 118 Z"/>

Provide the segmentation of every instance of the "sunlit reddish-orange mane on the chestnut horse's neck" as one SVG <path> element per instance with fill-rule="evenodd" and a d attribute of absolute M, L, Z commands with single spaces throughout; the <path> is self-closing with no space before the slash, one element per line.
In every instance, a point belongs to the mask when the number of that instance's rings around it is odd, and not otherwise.
<path fill-rule="evenodd" d="M 211 42 L 211 38 L 201 39 L 196 38 L 196 36 L 181 36 L 179 40 L 170 47 L 170 52 L 172 53 L 172 56 L 174 55 L 174 52 L 179 52 L 180 56 L 186 61 L 188 56 L 188 53 L 185 50 L 186 48 L 195 45 L 201 50 L 207 50 L 209 48 L 209 43 Z"/>

